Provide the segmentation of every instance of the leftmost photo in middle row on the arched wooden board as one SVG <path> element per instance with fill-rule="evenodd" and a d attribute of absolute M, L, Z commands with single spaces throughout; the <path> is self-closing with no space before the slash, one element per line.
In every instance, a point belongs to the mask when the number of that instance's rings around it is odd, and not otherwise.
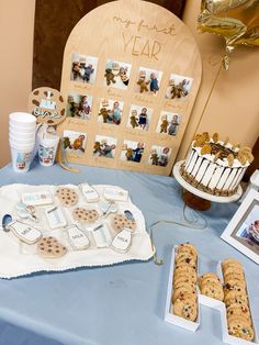
<path fill-rule="evenodd" d="M 69 92 L 67 98 L 67 115 L 70 118 L 90 120 L 92 112 L 92 97 Z"/>

